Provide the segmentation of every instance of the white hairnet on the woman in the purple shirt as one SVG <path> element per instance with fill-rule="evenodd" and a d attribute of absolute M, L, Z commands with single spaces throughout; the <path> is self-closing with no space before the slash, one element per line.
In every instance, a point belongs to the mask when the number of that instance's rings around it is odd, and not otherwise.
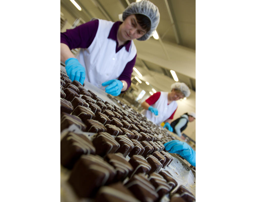
<path fill-rule="evenodd" d="M 144 41 L 152 37 L 160 21 L 160 13 L 158 11 L 157 6 L 148 0 L 133 2 L 123 12 L 123 16 L 122 16 L 123 21 L 129 15 L 132 15 L 132 14 L 145 15 L 150 19 L 150 22 L 151 22 L 150 30 L 146 34 L 144 34 L 141 38 L 137 38 L 137 40 Z"/>

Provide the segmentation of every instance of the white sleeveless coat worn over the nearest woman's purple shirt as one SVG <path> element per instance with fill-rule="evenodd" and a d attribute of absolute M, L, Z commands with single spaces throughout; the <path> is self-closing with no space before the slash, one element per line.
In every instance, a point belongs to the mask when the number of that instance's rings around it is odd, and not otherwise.
<path fill-rule="evenodd" d="M 87 49 L 80 49 L 76 56 L 79 63 L 85 67 L 85 80 L 101 89 L 106 88 L 101 85 L 103 82 L 117 79 L 137 53 L 133 41 L 129 51 L 122 48 L 115 52 L 116 41 L 108 38 L 113 25 L 114 22 L 99 19 L 93 42 Z"/>

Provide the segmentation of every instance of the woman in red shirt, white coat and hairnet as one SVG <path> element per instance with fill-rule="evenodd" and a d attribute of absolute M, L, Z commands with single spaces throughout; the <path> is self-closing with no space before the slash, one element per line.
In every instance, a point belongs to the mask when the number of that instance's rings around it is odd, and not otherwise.
<path fill-rule="evenodd" d="M 145 109 L 143 114 L 159 126 L 165 122 L 164 128 L 172 132 L 171 120 L 178 107 L 176 101 L 189 95 L 190 90 L 187 85 L 176 82 L 171 85 L 171 92 L 156 92 L 142 102 L 142 107 Z"/>

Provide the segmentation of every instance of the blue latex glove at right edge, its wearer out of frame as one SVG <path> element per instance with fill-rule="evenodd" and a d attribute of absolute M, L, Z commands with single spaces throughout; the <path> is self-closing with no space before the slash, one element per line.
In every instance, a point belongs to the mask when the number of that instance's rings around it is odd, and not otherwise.
<path fill-rule="evenodd" d="M 187 143 L 179 140 L 172 140 L 166 142 L 164 146 L 165 150 L 169 153 L 177 153 L 181 155 L 188 161 L 188 163 L 196 167 L 196 151 L 194 151 Z"/>

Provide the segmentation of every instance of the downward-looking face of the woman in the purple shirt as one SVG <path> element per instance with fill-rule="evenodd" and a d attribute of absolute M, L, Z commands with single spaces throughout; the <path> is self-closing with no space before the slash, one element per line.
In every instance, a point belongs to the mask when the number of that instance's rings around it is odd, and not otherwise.
<path fill-rule="evenodd" d="M 120 25 L 120 37 L 122 41 L 141 38 L 146 31 L 137 22 L 135 15 L 129 15 Z"/>

